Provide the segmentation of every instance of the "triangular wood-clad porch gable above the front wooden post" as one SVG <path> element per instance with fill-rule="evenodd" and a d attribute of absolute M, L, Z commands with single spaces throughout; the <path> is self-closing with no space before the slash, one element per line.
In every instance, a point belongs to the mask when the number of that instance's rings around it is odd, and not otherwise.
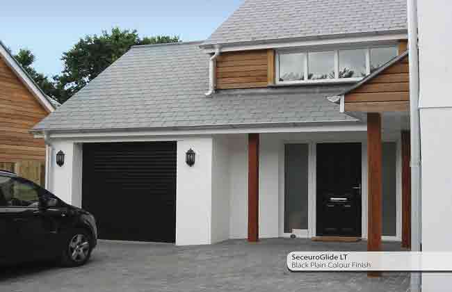
<path fill-rule="evenodd" d="M 345 111 L 378 113 L 408 111 L 410 76 L 408 58 L 388 67 L 378 76 L 349 92 L 344 99 Z"/>

